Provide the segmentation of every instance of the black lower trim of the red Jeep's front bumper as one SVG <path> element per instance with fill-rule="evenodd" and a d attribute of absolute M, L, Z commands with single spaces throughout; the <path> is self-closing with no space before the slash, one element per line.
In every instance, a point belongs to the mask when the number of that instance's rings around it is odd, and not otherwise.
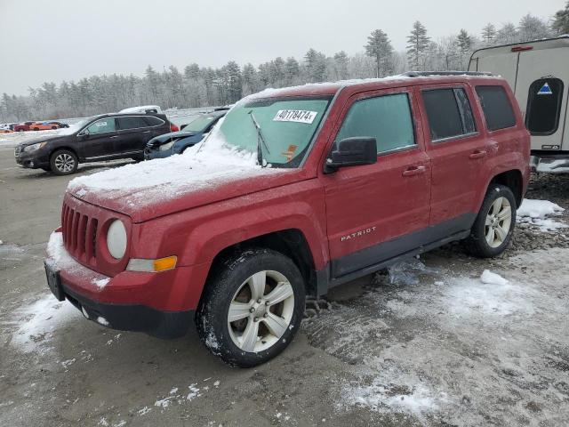
<path fill-rule="evenodd" d="M 188 327 L 194 321 L 194 310 L 162 311 L 145 305 L 96 302 L 76 294 L 65 285 L 63 292 L 77 309 L 86 311 L 90 320 L 120 331 L 144 332 L 159 338 L 179 338 L 188 332 Z"/>

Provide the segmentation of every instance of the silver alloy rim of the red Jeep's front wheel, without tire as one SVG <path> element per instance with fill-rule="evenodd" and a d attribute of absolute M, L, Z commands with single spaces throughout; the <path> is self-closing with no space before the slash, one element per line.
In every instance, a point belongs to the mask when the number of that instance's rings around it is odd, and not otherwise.
<path fill-rule="evenodd" d="M 240 350 L 267 350 L 291 326 L 293 310 L 290 281 L 278 271 L 259 271 L 233 295 L 228 310 L 229 335 Z"/>

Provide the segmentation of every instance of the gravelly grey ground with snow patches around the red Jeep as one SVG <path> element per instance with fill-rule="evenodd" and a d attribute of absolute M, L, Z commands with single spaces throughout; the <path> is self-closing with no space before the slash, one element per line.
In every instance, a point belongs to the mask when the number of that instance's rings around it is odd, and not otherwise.
<path fill-rule="evenodd" d="M 193 330 L 118 333 L 47 292 L 68 180 L 0 147 L 0 425 L 569 425 L 565 229 L 523 224 L 499 259 L 445 246 L 339 286 L 283 355 L 231 369 Z M 534 177 L 527 196 L 569 209 L 569 176 Z"/>

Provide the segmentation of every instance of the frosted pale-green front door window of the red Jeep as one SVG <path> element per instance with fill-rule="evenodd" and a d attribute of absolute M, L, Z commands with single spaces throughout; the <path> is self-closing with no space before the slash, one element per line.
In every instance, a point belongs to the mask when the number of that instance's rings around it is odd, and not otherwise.
<path fill-rule="evenodd" d="M 356 101 L 344 118 L 336 141 L 353 136 L 375 138 L 378 154 L 415 145 L 408 95 L 397 93 Z"/>

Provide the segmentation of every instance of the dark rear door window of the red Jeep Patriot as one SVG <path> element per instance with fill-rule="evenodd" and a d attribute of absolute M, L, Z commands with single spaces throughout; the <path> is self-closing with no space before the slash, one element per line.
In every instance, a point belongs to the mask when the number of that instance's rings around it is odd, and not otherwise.
<path fill-rule="evenodd" d="M 422 92 L 427 110 L 431 141 L 444 140 L 477 131 L 469 97 L 462 88 Z"/>

